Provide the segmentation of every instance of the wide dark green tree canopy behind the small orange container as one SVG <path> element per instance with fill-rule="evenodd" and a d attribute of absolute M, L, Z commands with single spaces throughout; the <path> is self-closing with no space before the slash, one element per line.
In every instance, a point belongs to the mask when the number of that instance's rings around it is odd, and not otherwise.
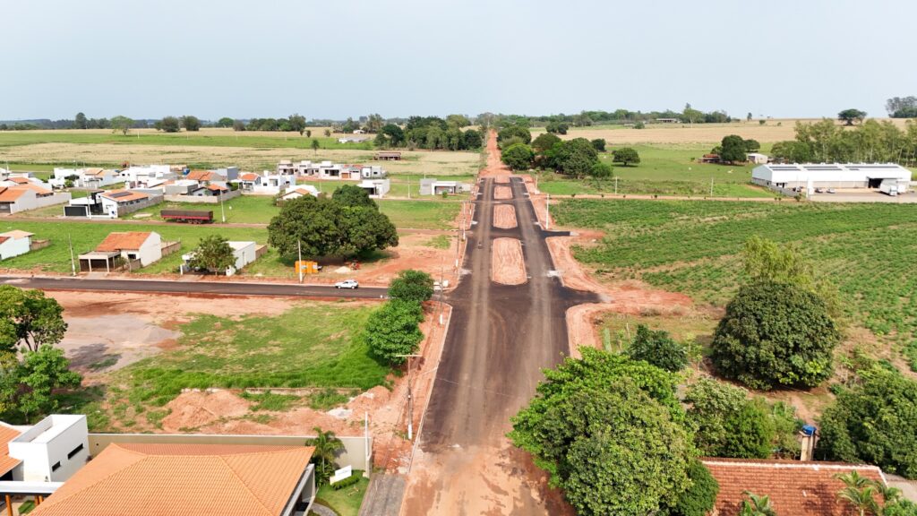
<path fill-rule="evenodd" d="M 313 258 L 362 255 L 398 245 L 394 224 L 375 202 L 371 206 L 349 203 L 327 196 L 287 201 L 268 225 L 268 242 L 287 260 L 297 256 L 297 242 L 302 244 L 303 256 Z"/>

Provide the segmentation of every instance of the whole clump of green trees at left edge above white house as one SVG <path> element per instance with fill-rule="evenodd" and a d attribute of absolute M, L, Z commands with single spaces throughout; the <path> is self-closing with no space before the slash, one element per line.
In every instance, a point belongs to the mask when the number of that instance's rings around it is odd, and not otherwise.
<path fill-rule="evenodd" d="M 61 389 L 80 387 L 82 376 L 54 347 L 66 331 L 53 297 L 0 286 L 0 419 L 32 423 L 57 409 Z"/>

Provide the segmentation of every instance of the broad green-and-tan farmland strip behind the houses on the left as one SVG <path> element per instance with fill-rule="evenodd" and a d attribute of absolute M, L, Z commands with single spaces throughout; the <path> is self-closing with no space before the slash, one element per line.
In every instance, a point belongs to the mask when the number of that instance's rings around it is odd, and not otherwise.
<path fill-rule="evenodd" d="M 322 128 L 313 129 L 321 135 Z M 121 163 L 186 164 L 192 168 L 236 165 L 243 170 L 274 170 L 281 160 L 375 163 L 370 143 L 337 142 L 319 136 L 322 148 L 313 151 L 313 138 L 298 133 L 234 132 L 202 129 L 198 133 L 157 133 L 141 129 L 140 137 L 111 131 L 0 131 L 0 163 L 15 171 L 48 172 L 58 166 L 108 166 Z M 378 162 L 391 174 L 477 174 L 481 155 L 473 151 L 403 151 L 400 162 Z"/>

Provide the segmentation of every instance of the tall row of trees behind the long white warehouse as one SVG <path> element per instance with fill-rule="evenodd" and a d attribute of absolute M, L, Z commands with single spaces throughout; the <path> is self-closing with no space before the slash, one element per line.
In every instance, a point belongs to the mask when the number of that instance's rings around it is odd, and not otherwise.
<path fill-rule="evenodd" d="M 779 141 L 774 158 L 789 163 L 917 163 L 917 122 L 900 129 L 888 120 L 844 128 L 825 118 L 796 124 L 796 139 Z"/>

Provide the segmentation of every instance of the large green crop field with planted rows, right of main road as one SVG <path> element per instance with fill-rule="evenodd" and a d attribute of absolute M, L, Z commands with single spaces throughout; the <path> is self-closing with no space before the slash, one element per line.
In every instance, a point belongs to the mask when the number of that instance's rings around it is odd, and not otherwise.
<path fill-rule="evenodd" d="M 751 235 L 796 242 L 841 292 L 857 326 L 900 343 L 917 337 L 917 210 L 889 204 L 567 200 L 558 224 L 605 230 L 577 259 L 606 279 L 638 278 L 723 306 Z"/>

